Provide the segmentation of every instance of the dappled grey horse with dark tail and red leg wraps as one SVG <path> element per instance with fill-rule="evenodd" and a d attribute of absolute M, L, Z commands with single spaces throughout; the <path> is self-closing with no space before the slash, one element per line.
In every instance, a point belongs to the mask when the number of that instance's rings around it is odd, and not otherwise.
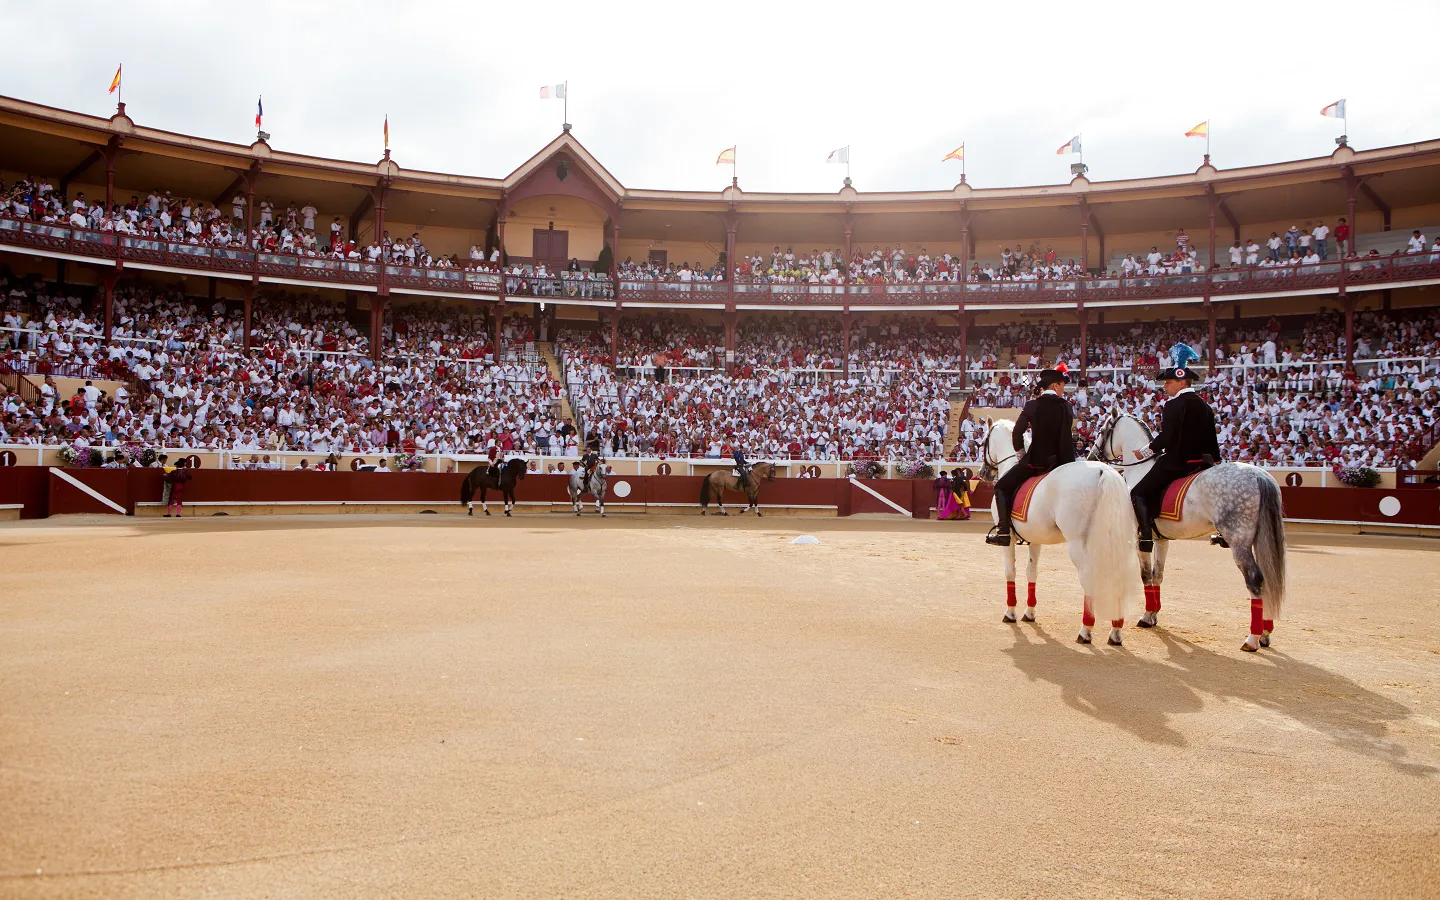
<path fill-rule="evenodd" d="M 1132 462 L 1130 451 L 1148 446 L 1152 438 L 1143 422 L 1116 410 L 1102 426 L 1090 458 L 1123 465 L 1126 485 L 1133 487 L 1155 461 Z M 1145 582 L 1140 628 L 1152 628 L 1159 619 L 1161 582 L 1165 577 L 1169 541 L 1218 533 L 1250 590 L 1250 636 L 1240 649 L 1254 652 L 1270 647 L 1270 632 L 1280 618 L 1280 603 L 1284 599 L 1283 516 L 1280 485 L 1263 468 L 1247 462 L 1223 462 L 1201 472 L 1185 491 L 1181 518 L 1156 520 L 1155 550 L 1140 554 L 1140 580 Z"/>

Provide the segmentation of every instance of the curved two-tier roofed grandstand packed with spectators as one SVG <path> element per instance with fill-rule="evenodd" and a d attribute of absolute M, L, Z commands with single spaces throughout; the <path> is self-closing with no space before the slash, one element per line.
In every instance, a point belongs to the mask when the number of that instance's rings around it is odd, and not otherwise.
<path fill-rule="evenodd" d="M 618 459 L 973 462 L 1027 370 L 1080 376 L 1084 441 L 1187 341 L 1236 459 L 1436 465 L 1440 141 L 752 194 L 622 186 L 569 131 L 484 179 L 0 99 L 0 445 L 36 459 L 442 471 L 573 420 Z"/>

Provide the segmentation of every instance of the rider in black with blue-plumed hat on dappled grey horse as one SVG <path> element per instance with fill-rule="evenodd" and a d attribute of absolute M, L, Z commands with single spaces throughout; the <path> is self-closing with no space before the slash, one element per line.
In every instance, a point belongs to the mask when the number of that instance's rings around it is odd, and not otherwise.
<path fill-rule="evenodd" d="M 1220 461 L 1215 412 L 1189 386 L 1197 377 L 1195 370 L 1181 364 L 1165 369 L 1158 377 L 1169 397 L 1161 415 L 1161 433 L 1149 446 L 1135 451 L 1135 459 L 1148 459 L 1155 454 L 1161 458 L 1130 490 L 1135 520 L 1140 524 L 1140 553 L 1155 549 L 1155 514 L 1165 498 L 1165 488 Z"/>

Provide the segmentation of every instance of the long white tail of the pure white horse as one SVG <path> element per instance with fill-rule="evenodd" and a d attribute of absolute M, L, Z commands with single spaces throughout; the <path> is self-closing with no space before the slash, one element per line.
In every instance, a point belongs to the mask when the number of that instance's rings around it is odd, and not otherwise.
<path fill-rule="evenodd" d="M 1104 622 L 1136 612 L 1140 567 L 1135 550 L 1135 510 L 1125 480 L 1107 465 L 1100 467 L 1099 475 L 1100 491 L 1084 533 L 1089 572 L 1081 573 L 1080 585 L 1090 595 L 1094 618 Z"/>

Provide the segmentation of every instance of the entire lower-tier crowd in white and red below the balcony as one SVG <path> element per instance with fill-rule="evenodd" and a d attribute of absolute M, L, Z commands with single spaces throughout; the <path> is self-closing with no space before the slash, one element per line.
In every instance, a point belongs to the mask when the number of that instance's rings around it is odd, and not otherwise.
<path fill-rule="evenodd" d="M 111 343 L 79 288 L 0 275 L 0 363 L 22 372 L 121 383 L 111 395 L 3 397 L 0 442 L 147 444 L 235 452 L 575 452 L 559 433 L 562 395 L 612 454 L 793 455 L 805 459 L 939 456 L 960 361 L 953 327 L 919 317 L 868 317 L 851 331 L 848 376 L 838 317 L 747 317 L 724 372 L 723 333 L 681 314 L 628 314 L 619 359 L 606 320 L 556 336 L 563 384 L 517 351 L 537 336 L 505 321 L 497 357 L 491 323 L 472 307 L 396 305 L 372 361 L 369 328 L 315 295 L 258 298 L 252 346 L 235 304 L 138 281 L 117 288 Z M 363 314 L 361 314 L 363 315 Z M 1279 320 L 1227 321 L 1212 374 L 1228 458 L 1267 465 L 1414 462 L 1436 425 L 1440 311 L 1362 311 L 1355 367 L 1344 364 L 1344 320 L 1333 310 L 1284 333 Z M 1149 376 L 1176 341 L 1207 354 L 1188 323 L 1112 327 L 1092 334 L 1089 379 L 1076 390 L 1079 435 L 1093 436 L 1115 408 L 1158 423 Z M 1067 361 L 1079 338 L 1050 323 L 976 330 L 969 361 L 973 406 L 1020 406 L 1015 369 Z M 972 344 L 972 346 L 975 346 Z M 1207 354 L 1208 356 L 1208 354 Z M 1371 360 L 1380 360 L 1371 361 Z M 658 380 L 664 369 L 664 382 Z M 973 423 L 953 435 L 953 458 L 978 451 Z"/>

